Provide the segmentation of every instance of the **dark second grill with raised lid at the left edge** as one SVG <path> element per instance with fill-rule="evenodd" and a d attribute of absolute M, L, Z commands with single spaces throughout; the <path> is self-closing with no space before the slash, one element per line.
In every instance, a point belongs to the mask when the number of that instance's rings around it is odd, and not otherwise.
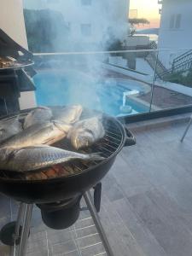
<path fill-rule="evenodd" d="M 0 116 L 20 110 L 20 92 L 35 90 L 32 76 L 33 55 L 0 29 L 0 57 L 15 61 L 9 67 L 0 67 Z"/>

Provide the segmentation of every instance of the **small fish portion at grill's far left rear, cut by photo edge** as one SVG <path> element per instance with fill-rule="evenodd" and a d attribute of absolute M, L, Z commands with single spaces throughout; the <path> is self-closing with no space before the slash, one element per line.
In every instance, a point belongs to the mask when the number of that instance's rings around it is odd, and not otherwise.
<path fill-rule="evenodd" d="M 20 117 L 0 121 L 0 143 L 22 131 Z"/>

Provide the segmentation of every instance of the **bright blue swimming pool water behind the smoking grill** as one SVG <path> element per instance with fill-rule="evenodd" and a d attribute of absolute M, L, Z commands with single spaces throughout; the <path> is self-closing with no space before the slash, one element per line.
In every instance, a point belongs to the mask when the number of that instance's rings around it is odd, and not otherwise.
<path fill-rule="evenodd" d="M 84 107 L 102 110 L 114 116 L 122 115 L 123 93 L 129 90 L 143 90 L 133 80 L 92 78 L 84 73 L 40 72 L 34 77 L 38 105 L 56 106 L 81 104 Z M 132 113 L 143 113 L 148 108 L 130 100 Z"/>

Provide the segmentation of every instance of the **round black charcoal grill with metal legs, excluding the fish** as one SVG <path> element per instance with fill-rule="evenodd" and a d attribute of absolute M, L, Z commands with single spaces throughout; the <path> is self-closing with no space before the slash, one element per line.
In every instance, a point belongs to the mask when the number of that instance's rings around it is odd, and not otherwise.
<path fill-rule="evenodd" d="M 20 237 L 20 256 L 25 255 L 26 252 L 26 241 L 30 228 L 33 204 L 38 204 L 42 209 L 42 206 L 44 208 L 44 206 L 46 207 L 50 203 L 70 201 L 81 195 L 84 196 L 84 200 L 96 224 L 98 233 L 102 238 L 106 252 L 110 256 L 113 255 L 89 191 L 106 175 L 113 165 L 117 154 L 119 154 L 119 151 L 124 146 L 134 145 L 136 141 L 131 131 L 125 129 L 124 125 L 122 125 L 118 119 L 103 114 L 103 125 L 106 131 L 105 136 L 101 141 L 94 144 L 94 146 L 84 149 L 84 153 L 100 152 L 102 156 L 105 157 L 105 160 L 91 163 L 75 161 L 70 163 L 73 170 L 75 170 L 73 174 L 71 173 L 64 177 L 48 177 L 44 180 L 26 180 L 22 175 L 15 176 L 15 174 L 9 174 L 9 172 L 3 170 L 0 172 L 0 191 L 14 198 L 16 201 L 21 202 L 15 228 L 15 234 L 17 235 L 15 237 L 18 238 L 20 216 L 24 216 Z M 57 146 L 65 148 L 65 140 L 61 141 Z M 20 212 L 24 213 L 21 214 Z"/>

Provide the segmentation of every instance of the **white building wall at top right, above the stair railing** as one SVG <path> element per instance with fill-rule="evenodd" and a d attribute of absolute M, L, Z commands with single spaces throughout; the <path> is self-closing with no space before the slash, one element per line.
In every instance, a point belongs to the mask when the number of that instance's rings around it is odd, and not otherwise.
<path fill-rule="evenodd" d="M 159 55 L 160 61 L 167 68 L 172 66 L 174 58 L 182 55 L 187 49 L 192 49 L 191 0 L 163 0 L 158 48 L 162 50 Z"/>

